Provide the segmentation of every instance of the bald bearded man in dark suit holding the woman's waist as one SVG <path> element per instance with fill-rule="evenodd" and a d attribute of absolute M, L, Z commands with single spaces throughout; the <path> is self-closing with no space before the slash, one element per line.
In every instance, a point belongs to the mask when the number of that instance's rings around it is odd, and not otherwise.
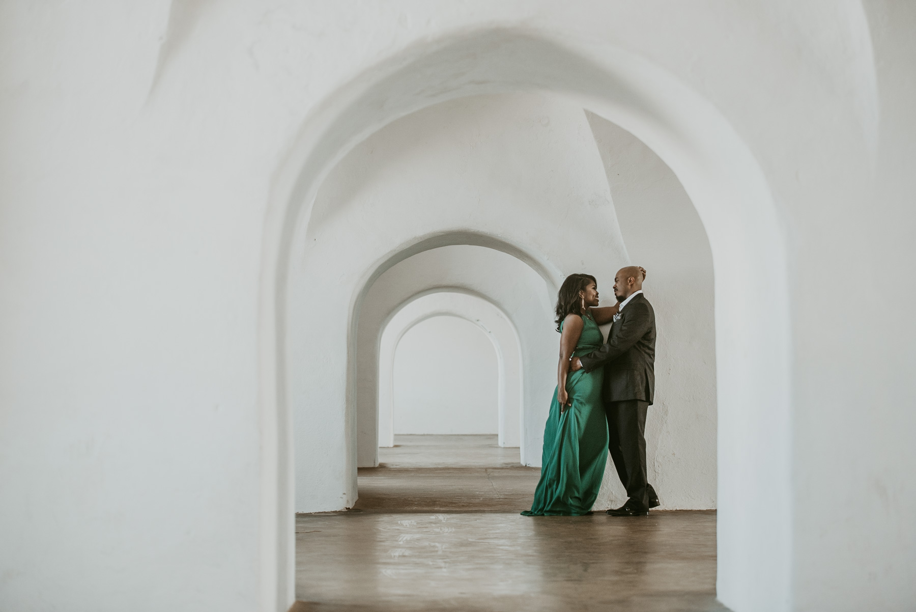
<path fill-rule="evenodd" d="M 659 505 L 646 473 L 646 413 L 655 392 L 655 311 L 642 292 L 646 271 L 620 268 L 614 295 L 620 303 L 607 342 L 594 353 L 573 357 L 572 370 L 605 366 L 605 413 L 610 453 L 627 503 L 607 510 L 615 517 L 649 514 Z"/>

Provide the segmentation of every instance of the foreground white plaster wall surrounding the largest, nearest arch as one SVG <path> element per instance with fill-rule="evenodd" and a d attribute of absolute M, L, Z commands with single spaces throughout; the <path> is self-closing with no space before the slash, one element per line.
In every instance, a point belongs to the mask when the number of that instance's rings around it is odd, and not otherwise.
<path fill-rule="evenodd" d="M 0 5 L 0 607 L 286 609 L 282 256 L 312 178 L 518 89 L 592 96 L 710 235 L 719 596 L 911 607 L 911 3 L 361 8 Z"/>

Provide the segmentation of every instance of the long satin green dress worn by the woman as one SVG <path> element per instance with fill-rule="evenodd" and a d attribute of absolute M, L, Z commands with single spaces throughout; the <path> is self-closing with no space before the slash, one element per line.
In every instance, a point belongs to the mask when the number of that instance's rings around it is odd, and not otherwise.
<path fill-rule="evenodd" d="M 591 315 L 584 316 L 583 322 L 582 336 L 573 353 L 577 357 L 604 344 Z M 523 511 L 523 515 L 580 516 L 592 509 L 607 463 L 607 418 L 601 399 L 604 370 L 599 367 L 591 373 L 570 372 L 566 392 L 573 405 L 562 414 L 554 389 L 544 427 L 540 482 L 531 509 Z"/>

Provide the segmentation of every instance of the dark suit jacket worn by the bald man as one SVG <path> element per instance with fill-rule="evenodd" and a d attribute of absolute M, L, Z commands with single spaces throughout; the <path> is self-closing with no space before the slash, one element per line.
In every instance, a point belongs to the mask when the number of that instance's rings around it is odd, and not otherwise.
<path fill-rule="evenodd" d="M 640 293 L 620 311 L 607 343 L 579 357 L 586 372 L 605 366 L 605 401 L 642 399 L 655 395 L 655 311 Z"/>

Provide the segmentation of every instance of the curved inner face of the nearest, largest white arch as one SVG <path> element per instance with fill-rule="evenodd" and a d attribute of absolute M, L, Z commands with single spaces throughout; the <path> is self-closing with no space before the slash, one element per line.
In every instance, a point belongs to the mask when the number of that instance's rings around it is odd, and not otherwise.
<path fill-rule="evenodd" d="M 265 575 L 279 576 L 265 588 L 280 601 L 291 598 L 294 568 L 285 397 L 289 257 L 323 177 L 356 142 L 424 106 L 544 89 L 575 97 L 646 142 L 700 213 L 716 274 L 719 596 L 758 609 L 786 607 L 791 338 L 780 216 L 758 163 L 713 104 L 648 60 L 611 46 L 571 49 L 573 44 L 497 29 L 406 49 L 318 107 L 280 169 L 264 241 L 260 334 L 262 528 L 271 534 L 262 541 L 262 556 Z"/>

